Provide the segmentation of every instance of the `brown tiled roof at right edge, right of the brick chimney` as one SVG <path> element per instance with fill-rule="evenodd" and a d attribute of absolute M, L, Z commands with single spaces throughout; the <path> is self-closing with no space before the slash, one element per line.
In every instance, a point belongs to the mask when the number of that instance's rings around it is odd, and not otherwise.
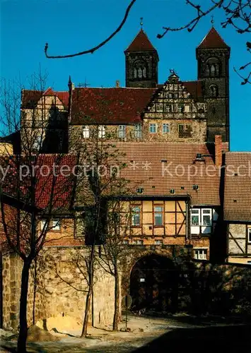
<path fill-rule="evenodd" d="M 250 165 L 251 152 L 226 153 L 224 220 L 251 222 Z"/>

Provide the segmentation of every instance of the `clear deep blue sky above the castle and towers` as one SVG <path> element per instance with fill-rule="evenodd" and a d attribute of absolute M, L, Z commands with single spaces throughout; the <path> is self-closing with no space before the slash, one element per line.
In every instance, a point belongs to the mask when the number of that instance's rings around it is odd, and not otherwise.
<path fill-rule="evenodd" d="M 197 1 L 199 2 L 199 1 Z M 205 6 L 211 1 L 200 1 Z M 113 87 L 120 80 L 124 85 L 124 49 L 139 31 L 139 18 L 144 17 L 144 30 L 158 50 L 159 83 L 169 68 L 175 68 L 182 80 L 197 78 L 195 48 L 211 28 L 211 18 L 204 18 L 197 28 L 169 33 L 158 40 L 163 26 L 177 26 L 193 16 L 185 0 L 137 0 L 121 32 L 94 54 L 72 59 L 46 59 L 48 53 L 72 54 L 89 49 L 115 30 L 124 16 L 129 0 L 0 0 L 1 4 L 1 77 L 20 77 L 28 87 L 27 78 L 39 66 L 47 71 L 48 86 L 67 90 L 69 75 L 73 82 L 93 87 Z M 251 86 L 240 85 L 233 66 L 250 61 L 245 49 L 247 35 L 238 35 L 233 28 L 222 29 L 223 13 L 214 13 L 214 25 L 231 47 L 230 59 L 230 143 L 231 150 L 250 150 Z M 250 40 L 250 38 L 249 38 Z"/>

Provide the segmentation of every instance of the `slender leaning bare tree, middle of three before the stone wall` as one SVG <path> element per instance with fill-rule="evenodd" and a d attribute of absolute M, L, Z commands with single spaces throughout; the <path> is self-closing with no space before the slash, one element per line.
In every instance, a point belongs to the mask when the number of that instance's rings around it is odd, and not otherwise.
<path fill-rule="evenodd" d="M 103 104 L 103 103 L 101 103 Z M 79 114 L 82 114 L 80 112 Z M 88 138 L 81 136 L 81 131 L 71 130 L 72 144 L 80 152 L 78 164 L 83 167 L 85 177 L 76 189 L 76 207 L 83 211 L 78 223 L 77 232 L 86 238 L 89 247 L 88 257 L 82 258 L 87 268 L 86 308 L 83 319 L 81 337 L 87 335 L 90 316 L 91 298 L 93 296 L 95 256 L 97 245 L 106 239 L 107 196 L 119 195 L 125 190 L 128 181 L 121 177 L 120 172 L 126 166 L 124 154 L 115 144 L 110 143 L 110 135 L 103 130 L 102 121 L 97 124 L 91 117 L 88 119 Z M 105 121 L 105 117 L 103 118 Z M 93 125 L 92 125 L 93 124 Z M 78 142 L 75 142 L 78 141 Z M 83 265 L 82 265 L 83 267 Z"/>

